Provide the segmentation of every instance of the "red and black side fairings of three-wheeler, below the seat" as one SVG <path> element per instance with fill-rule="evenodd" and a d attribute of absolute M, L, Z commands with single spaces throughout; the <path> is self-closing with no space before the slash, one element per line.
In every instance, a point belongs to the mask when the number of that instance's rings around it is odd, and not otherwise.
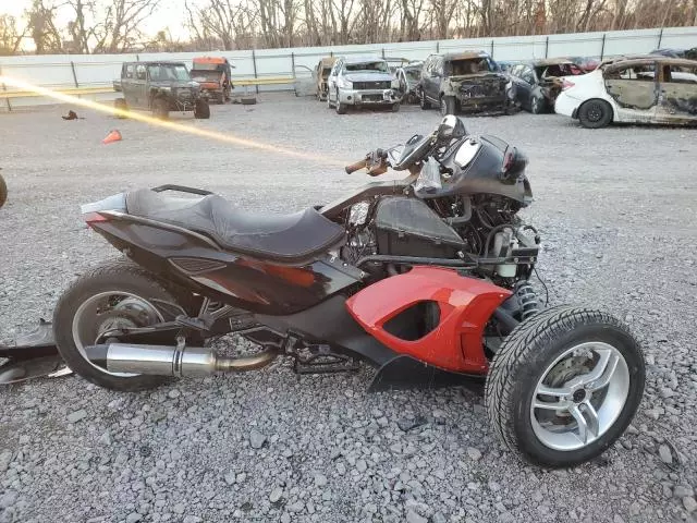
<path fill-rule="evenodd" d="M 250 341 L 281 348 L 293 337 L 327 344 L 379 367 L 374 389 L 448 385 L 487 372 L 484 329 L 511 295 L 506 289 L 424 266 L 366 284 L 367 275 L 332 250 L 295 263 L 257 259 L 124 210 L 90 212 L 86 221 L 163 280 L 253 313 L 264 327 L 245 332 Z"/>

